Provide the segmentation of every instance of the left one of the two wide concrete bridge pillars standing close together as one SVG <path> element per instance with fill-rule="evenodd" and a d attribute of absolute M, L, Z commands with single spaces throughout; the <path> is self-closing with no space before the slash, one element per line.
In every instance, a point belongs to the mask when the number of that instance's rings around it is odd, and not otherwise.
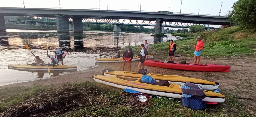
<path fill-rule="evenodd" d="M 56 15 L 56 21 L 58 32 L 69 32 L 68 17 L 63 15 Z"/>

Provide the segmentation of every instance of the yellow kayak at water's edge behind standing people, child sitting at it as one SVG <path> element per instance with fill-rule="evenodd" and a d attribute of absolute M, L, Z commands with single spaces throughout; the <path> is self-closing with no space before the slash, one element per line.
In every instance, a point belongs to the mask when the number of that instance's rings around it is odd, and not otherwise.
<path fill-rule="evenodd" d="M 148 55 L 148 59 L 153 58 L 153 55 Z M 114 63 L 114 62 L 123 62 L 123 58 L 118 58 L 118 59 L 113 59 L 113 58 L 100 58 L 100 59 L 95 59 L 96 62 L 100 63 Z M 139 56 L 133 57 L 132 61 L 138 61 Z"/>

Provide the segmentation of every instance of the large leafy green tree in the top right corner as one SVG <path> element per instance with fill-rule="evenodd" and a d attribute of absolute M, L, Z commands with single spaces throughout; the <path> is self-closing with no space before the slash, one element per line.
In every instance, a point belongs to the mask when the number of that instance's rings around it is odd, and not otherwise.
<path fill-rule="evenodd" d="M 242 28 L 256 31 L 256 1 L 239 0 L 233 4 L 231 18 Z"/>

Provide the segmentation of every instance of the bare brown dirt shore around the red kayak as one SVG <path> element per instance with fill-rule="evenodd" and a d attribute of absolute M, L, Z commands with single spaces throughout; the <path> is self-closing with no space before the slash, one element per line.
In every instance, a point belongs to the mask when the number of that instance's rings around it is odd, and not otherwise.
<path fill-rule="evenodd" d="M 165 60 L 168 60 L 167 56 Z M 175 62 L 179 62 L 182 59 L 187 63 L 193 63 L 194 58 L 191 57 L 176 57 Z M 158 60 L 153 58 L 152 60 Z M 242 63 L 243 61 L 244 63 Z M 175 69 L 157 68 L 152 66 L 145 66 L 148 73 L 158 73 L 167 75 L 179 75 L 191 78 L 205 79 L 209 81 L 215 81 L 220 83 L 220 92 L 225 94 L 230 93 L 236 96 L 239 103 L 243 103 L 247 108 L 253 108 L 256 106 L 256 60 L 255 58 L 220 58 L 211 59 L 201 57 L 200 63 L 202 64 L 220 64 L 232 66 L 230 72 L 196 72 L 196 71 L 182 71 Z M 72 72 L 66 75 L 51 77 L 48 79 L 40 79 L 36 81 L 23 82 L 18 84 L 6 85 L 10 86 L 37 86 L 37 85 L 60 85 L 64 83 L 73 83 L 81 81 L 92 81 L 93 75 L 102 75 L 104 68 L 111 68 L 116 71 L 122 71 L 122 63 L 95 63 L 96 66 L 89 68 L 85 71 Z M 125 70 L 128 70 L 126 65 Z M 138 61 L 132 62 L 132 72 L 138 72 Z"/>

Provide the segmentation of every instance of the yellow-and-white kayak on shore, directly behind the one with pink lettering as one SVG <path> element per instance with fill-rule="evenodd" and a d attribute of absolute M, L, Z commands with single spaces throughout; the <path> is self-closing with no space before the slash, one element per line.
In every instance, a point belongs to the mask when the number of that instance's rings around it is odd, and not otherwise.
<path fill-rule="evenodd" d="M 142 74 L 138 74 L 135 72 L 126 72 L 126 71 L 110 71 L 106 72 L 106 70 L 103 70 L 103 75 L 105 76 L 125 76 L 125 77 L 132 77 L 132 78 L 142 78 Z M 169 83 L 174 83 L 181 85 L 182 83 L 191 82 L 195 85 L 202 86 L 205 90 L 214 90 L 219 87 L 218 82 L 212 82 L 207 80 L 201 80 L 196 78 L 188 78 L 188 77 L 182 77 L 177 75 L 162 75 L 162 74 L 154 74 L 154 73 L 148 73 L 146 74 L 148 76 L 151 76 L 156 81 L 168 81 Z"/>

